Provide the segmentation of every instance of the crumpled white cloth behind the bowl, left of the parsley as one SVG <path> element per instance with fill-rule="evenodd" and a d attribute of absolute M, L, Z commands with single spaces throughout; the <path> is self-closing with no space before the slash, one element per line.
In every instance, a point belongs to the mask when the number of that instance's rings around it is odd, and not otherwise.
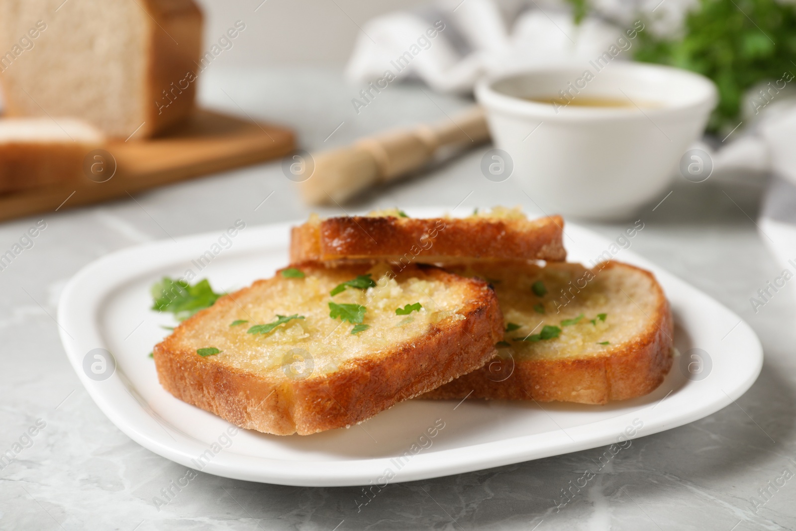
<path fill-rule="evenodd" d="M 368 21 L 345 73 L 362 82 L 391 70 L 398 79 L 419 77 L 439 92 L 469 92 L 484 75 L 598 57 L 642 15 L 653 20 L 645 31 L 673 33 L 694 1 L 599 0 L 598 14 L 576 25 L 563 0 L 439 0 Z M 443 29 L 438 35 L 413 48 L 439 22 Z M 407 52 L 412 60 L 399 70 L 394 61 Z M 619 57 L 627 55 L 625 50 Z"/>

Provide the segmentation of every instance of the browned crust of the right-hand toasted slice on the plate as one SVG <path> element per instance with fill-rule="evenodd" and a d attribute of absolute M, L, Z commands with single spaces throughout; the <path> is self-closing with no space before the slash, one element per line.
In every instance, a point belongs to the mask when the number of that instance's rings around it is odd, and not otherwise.
<path fill-rule="evenodd" d="M 650 271 L 628 264 L 607 262 L 600 270 L 626 267 L 652 280 L 657 308 L 646 329 L 631 342 L 625 342 L 599 357 L 564 360 L 517 360 L 513 373 L 502 381 L 496 369 L 505 365 L 487 363 L 482 369 L 458 377 L 423 395 L 423 398 L 561 400 L 581 404 L 606 404 L 646 395 L 664 380 L 672 366 L 670 349 L 673 320 L 669 303 Z M 509 364 L 510 365 L 510 364 Z M 491 372 L 490 372 L 491 370 Z"/>

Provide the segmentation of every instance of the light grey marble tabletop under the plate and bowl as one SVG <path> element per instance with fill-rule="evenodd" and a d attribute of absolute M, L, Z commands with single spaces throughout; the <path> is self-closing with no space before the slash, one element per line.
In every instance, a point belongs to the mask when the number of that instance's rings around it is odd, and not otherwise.
<path fill-rule="evenodd" d="M 389 125 L 444 118 L 468 103 L 396 84 L 357 115 L 350 100 L 359 88 L 345 85 L 338 72 L 206 73 L 206 106 L 295 127 L 309 150 Z M 533 202 L 513 179 L 495 183 L 482 176 L 486 149 L 345 208 L 452 209 L 463 201 L 470 209 L 521 204 L 533 213 Z M 752 221 L 761 193 L 754 182 L 677 182 L 654 211 L 652 204 L 639 214 L 646 226 L 632 247 L 751 323 L 766 355 L 758 381 L 712 416 L 634 440 L 561 510 L 554 502 L 560 489 L 603 449 L 392 484 L 359 512 L 357 487 L 273 486 L 201 472 L 173 502 L 156 508 L 153 497 L 185 475 L 185 467 L 123 435 L 80 385 L 54 321 L 64 283 L 119 248 L 220 230 L 238 217 L 249 225 L 298 219 L 308 209 L 273 162 L 140 193 L 135 201 L 4 223 L 0 252 L 37 221 L 47 225 L 33 248 L 0 272 L 0 452 L 20 449 L 0 470 L 0 528 L 794 529 L 796 480 L 780 479 L 785 470 L 796 472 L 793 287 L 758 313 L 749 303 L 781 270 Z M 614 238 L 626 224 L 587 225 Z M 35 435 L 25 435 L 29 428 Z M 765 504 L 756 506 L 754 499 Z"/>

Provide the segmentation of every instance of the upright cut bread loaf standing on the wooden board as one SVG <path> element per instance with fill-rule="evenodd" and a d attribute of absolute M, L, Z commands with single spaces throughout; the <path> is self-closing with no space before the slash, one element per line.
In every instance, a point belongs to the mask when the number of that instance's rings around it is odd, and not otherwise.
<path fill-rule="evenodd" d="M 201 54 L 193 0 L 0 2 L 9 116 L 73 116 L 144 139 L 193 110 Z"/>

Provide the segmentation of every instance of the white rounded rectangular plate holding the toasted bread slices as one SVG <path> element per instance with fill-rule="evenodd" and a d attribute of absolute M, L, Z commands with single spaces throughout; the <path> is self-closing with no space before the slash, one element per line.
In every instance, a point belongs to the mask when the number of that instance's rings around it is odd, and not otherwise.
<path fill-rule="evenodd" d="M 416 217 L 441 212 L 409 210 Z M 131 439 L 167 459 L 228 478 L 296 486 L 383 485 L 600 447 L 623 441 L 623 433 L 676 428 L 731 404 L 763 365 L 758 338 L 736 314 L 632 252 L 617 253 L 615 242 L 570 224 L 568 260 L 589 264 L 608 250 L 653 271 L 672 304 L 675 346 L 682 354 L 650 395 L 605 406 L 408 400 L 363 424 L 316 435 L 235 430 L 158 384 L 147 354 L 168 334 L 162 326 L 174 321 L 150 310 L 150 286 L 187 269 L 208 278 L 216 291 L 267 278 L 287 264 L 290 226 L 245 228 L 228 248 L 223 239 L 213 247 L 218 232 L 123 249 L 84 267 L 68 283 L 58 318 L 69 361 L 96 404 Z M 196 260 L 209 250 L 217 255 L 200 270 Z M 115 370 L 106 369 L 103 380 L 90 369 L 96 358 L 89 353 L 98 348 L 115 359 Z"/>

